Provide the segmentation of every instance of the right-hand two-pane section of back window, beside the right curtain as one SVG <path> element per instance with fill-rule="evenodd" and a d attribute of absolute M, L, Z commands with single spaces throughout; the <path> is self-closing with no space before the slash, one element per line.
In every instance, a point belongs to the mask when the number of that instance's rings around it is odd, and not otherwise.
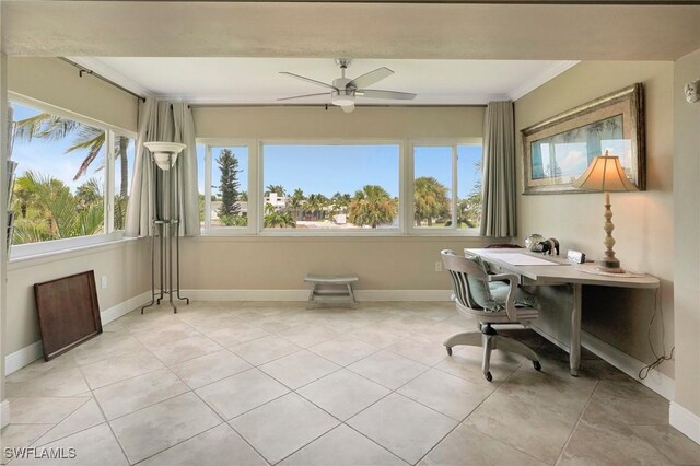
<path fill-rule="evenodd" d="M 413 145 L 413 229 L 479 226 L 481 145 Z"/>

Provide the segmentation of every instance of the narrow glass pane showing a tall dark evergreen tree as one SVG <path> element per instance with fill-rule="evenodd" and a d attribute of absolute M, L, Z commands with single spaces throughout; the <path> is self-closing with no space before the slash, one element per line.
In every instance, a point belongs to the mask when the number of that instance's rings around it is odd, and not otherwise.
<path fill-rule="evenodd" d="M 211 228 L 248 225 L 248 148 L 211 148 Z"/>

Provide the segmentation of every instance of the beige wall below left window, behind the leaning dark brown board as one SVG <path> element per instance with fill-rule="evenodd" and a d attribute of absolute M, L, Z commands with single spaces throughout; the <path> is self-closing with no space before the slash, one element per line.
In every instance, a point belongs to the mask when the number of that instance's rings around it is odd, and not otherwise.
<path fill-rule="evenodd" d="M 4 354 L 40 339 L 34 283 L 94 270 L 100 310 L 106 311 L 150 289 L 149 244 L 147 240 L 131 240 L 10 263 Z M 107 277 L 104 290 L 100 287 L 103 276 Z"/>

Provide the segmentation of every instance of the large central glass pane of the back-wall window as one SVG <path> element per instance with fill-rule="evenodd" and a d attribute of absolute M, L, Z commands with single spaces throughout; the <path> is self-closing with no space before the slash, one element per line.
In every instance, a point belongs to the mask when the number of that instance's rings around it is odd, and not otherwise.
<path fill-rule="evenodd" d="M 265 228 L 398 228 L 397 144 L 265 144 Z"/>

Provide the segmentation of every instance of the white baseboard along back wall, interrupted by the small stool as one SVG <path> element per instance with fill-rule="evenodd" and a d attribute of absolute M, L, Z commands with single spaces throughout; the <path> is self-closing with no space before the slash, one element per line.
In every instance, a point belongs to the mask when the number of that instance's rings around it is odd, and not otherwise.
<path fill-rule="evenodd" d="M 451 290 L 355 290 L 358 301 L 450 301 Z M 192 301 L 306 301 L 308 290 L 183 290 Z"/>

